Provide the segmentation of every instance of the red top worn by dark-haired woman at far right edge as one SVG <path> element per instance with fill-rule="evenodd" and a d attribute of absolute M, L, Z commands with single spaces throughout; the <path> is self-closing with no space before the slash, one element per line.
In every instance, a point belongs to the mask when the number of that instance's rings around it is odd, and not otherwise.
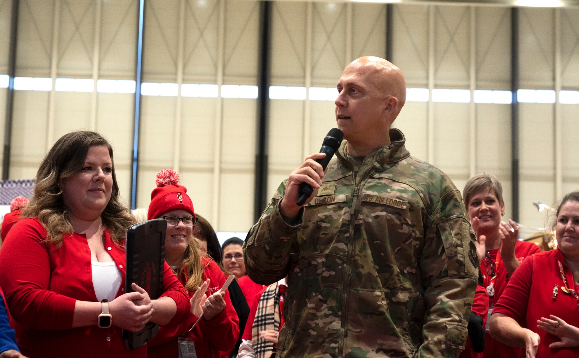
<path fill-rule="evenodd" d="M 537 328 L 537 320 L 555 315 L 572 326 L 579 327 L 579 306 L 577 299 L 563 292 L 565 287 L 557 261 L 563 264 L 569 288 L 579 290 L 573 279 L 573 272 L 565 265 L 565 257 L 559 249 L 545 251 L 527 258 L 511 276 L 503 295 L 494 306 L 494 313 L 503 313 L 516 320 L 522 327 L 529 328 L 541 338 L 537 358 L 577 357 L 579 348 L 551 349 L 549 344 L 560 339 Z M 553 299 L 553 288 L 558 287 L 558 294 Z M 520 357 L 525 357 L 521 349 Z M 511 357 L 513 358 L 513 357 Z"/>

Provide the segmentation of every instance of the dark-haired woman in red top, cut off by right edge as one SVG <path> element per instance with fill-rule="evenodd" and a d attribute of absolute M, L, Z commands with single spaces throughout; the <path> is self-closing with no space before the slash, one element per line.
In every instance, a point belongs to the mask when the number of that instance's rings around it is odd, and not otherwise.
<path fill-rule="evenodd" d="M 522 347 L 521 357 L 579 355 L 579 191 L 559 205 L 555 237 L 556 250 L 516 269 L 490 319 L 490 334 Z"/>

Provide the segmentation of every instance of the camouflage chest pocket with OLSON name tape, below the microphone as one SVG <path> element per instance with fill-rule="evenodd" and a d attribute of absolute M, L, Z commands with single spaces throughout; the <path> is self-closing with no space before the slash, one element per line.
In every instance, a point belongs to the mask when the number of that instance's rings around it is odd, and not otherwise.
<path fill-rule="evenodd" d="M 347 249 L 349 195 L 316 196 L 306 204 L 299 235 L 302 251 L 344 255 Z"/>

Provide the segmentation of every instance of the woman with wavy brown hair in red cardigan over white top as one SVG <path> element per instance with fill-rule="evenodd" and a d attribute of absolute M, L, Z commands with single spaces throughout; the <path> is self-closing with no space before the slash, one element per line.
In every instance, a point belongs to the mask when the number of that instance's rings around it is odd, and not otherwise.
<path fill-rule="evenodd" d="M 119 201 L 111 145 L 98 133 L 65 134 L 36 173 L 23 220 L 0 250 L 0 286 L 23 355 L 146 357 L 122 330 L 177 324 L 189 299 L 171 269 L 151 300 L 124 292 L 124 236 L 134 221 Z"/>

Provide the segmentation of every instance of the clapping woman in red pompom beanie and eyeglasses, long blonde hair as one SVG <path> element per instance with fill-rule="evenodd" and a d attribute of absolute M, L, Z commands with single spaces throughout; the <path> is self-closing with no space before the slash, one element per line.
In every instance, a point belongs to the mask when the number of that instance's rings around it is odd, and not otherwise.
<path fill-rule="evenodd" d="M 148 218 L 167 221 L 165 261 L 188 291 L 191 312 L 179 326 L 159 328 L 159 334 L 148 343 L 148 357 L 177 358 L 179 350 L 186 356 L 185 349 L 189 352 L 195 349 L 199 358 L 218 358 L 220 351 L 228 352 L 236 344 L 239 320 L 228 290 L 218 293 L 225 283 L 225 274 L 207 255 L 201 254 L 199 242 L 193 237 L 197 221 L 193 203 L 187 188 L 178 183 L 179 175 L 173 169 L 157 174 Z"/>

